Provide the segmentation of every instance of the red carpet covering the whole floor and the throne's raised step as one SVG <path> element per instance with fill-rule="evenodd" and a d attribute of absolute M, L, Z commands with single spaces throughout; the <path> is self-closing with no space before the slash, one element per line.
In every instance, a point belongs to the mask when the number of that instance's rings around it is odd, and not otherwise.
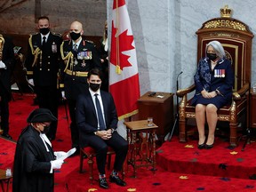
<path fill-rule="evenodd" d="M 13 94 L 10 103 L 10 134 L 17 140 L 21 130 L 26 126 L 28 114 L 36 106 L 32 106 L 33 95 Z M 59 126 L 56 140 L 52 141 L 54 150 L 67 151 L 71 147 L 70 132 L 63 106 L 60 106 Z M 198 150 L 197 140 L 179 143 L 177 136 L 171 142 L 165 142 L 157 149 L 156 174 L 150 168 L 140 168 L 137 178 L 132 177 L 132 167 L 125 172 L 126 187 L 109 183 L 107 191 L 255 191 L 256 180 L 249 176 L 256 174 L 256 143 L 247 145 L 245 151 L 240 141 L 237 148 L 228 148 L 228 141 L 216 138 L 211 150 Z M 15 143 L 0 138 L 0 168 L 12 167 Z M 114 159 L 114 158 L 112 158 Z M 88 172 L 79 173 L 79 156 L 65 160 L 60 171 L 55 174 L 55 192 L 106 191 L 99 188 L 97 180 L 90 184 Z M 88 171 L 86 159 L 84 169 Z M 107 173 L 107 175 L 109 172 Z M 94 178 L 97 178 L 94 164 Z M 12 190 L 11 190 L 12 191 Z"/>

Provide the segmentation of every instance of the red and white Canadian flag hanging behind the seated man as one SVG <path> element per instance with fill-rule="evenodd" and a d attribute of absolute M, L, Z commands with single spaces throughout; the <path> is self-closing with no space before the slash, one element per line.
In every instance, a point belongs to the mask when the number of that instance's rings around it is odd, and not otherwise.
<path fill-rule="evenodd" d="M 122 120 L 138 113 L 140 98 L 136 50 L 125 0 L 114 0 L 111 34 L 109 91 Z"/>

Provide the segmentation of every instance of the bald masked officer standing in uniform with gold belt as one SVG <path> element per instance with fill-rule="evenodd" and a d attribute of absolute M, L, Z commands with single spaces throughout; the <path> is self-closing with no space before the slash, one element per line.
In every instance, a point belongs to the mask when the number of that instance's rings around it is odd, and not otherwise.
<path fill-rule="evenodd" d="M 100 68 L 100 55 L 95 45 L 84 40 L 83 25 L 74 21 L 70 25 L 69 39 L 60 46 L 64 65 L 61 68 L 62 98 L 68 100 L 69 115 L 71 119 L 70 130 L 72 148 L 79 153 L 79 133 L 76 126 L 76 99 L 81 93 L 88 90 L 87 74 L 92 68 Z M 100 68 L 101 69 L 101 68 Z"/>

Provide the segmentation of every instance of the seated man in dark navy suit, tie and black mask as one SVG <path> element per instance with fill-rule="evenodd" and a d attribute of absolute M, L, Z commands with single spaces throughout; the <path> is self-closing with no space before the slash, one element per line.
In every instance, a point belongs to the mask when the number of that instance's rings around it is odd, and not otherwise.
<path fill-rule="evenodd" d="M 108 146 L 113 148 L 116 158 L 109 180 L 126 186 L 124 180 L 119 178 L 118 172 L 122 170 L 128 142 L 116 132 L 118 119 L 115 102 L 109 92 L 100 91 L 101 76 L 100 70 L 93 68 L 87 79 L 90 88 L 77 98 L 76 123 L 80 132 L 80 145 L 81 148 L 90 146 L 97 151 L 100 188 L 108 188 L 105 164 Z"/>

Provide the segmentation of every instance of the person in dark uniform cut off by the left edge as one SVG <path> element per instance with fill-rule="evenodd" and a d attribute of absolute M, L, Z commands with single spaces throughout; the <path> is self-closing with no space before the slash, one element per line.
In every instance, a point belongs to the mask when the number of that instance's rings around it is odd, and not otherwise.
<path fill-rule="evenodd" d="M 12 99 L 11 74 L 15 65 L 13 44 L 11 39 L 0 34 L 0 115 L 2 136 L 9 135 L 9 101 Z"/>

